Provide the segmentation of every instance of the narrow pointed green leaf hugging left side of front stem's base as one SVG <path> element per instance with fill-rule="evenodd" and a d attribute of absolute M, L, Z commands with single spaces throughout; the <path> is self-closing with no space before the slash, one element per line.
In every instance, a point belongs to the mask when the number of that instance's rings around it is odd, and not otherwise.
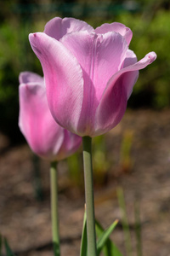
<path fill-rule="evenodd" d="M 88 236 L 87 236 L 87 216 L 86 210 L 84 212 L 83 226 L 82 226 L 82 241 L 80 256 L 88 256 Z"/>

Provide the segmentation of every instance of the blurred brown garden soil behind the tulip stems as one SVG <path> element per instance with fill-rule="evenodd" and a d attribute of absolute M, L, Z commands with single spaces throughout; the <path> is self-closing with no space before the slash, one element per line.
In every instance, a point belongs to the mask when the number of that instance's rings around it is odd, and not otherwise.
<path fill-rule="evenodd" d="M 95 161 L 96 155 L 104 159 L 99 170 L 94 163 L 94 172 L 99 171 L 94 176 L 96 218 L 104 228 L 119 219 L 111 240 L 127 255 L 117 201 L 117 189 L 122 188 L 132 255 L 170 256 L 170 110 L 128 110 L 121 124 L 103 137 L 103 152 L 100 148 L 99 154 L 94 153 Z M 38 161 L 26 143 L 10 146 L 3 134 L 0 153 L 0 233 L 18 256 L 52 256 L 48 162 Z M 65 161 L 58 169 L 61 255 L 78 256 L 83 183 L 68 171 Z M 143 254 L 137 254 L 136 212 Z"/>

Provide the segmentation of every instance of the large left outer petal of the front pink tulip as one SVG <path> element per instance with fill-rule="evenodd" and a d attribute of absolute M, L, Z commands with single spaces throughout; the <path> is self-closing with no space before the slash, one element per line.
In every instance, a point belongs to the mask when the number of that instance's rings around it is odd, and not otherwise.
<path fill-rule="evenodd" d="M 82 69 L 63 44 L 45 33 L 30 34 L 31 47 L 42 63 L 48 106 L 59 125 L 77 132 L 82 109 Z"/>

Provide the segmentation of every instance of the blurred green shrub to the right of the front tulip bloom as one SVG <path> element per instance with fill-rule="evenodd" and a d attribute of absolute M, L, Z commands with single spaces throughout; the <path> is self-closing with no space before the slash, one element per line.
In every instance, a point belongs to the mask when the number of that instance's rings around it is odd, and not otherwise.
<path fill-rule="evenodd" d="M 170 15 L 167 11 L 159 11 L 150 19 L 144 15 L 121 15 L 118 20 L 133 31 L 130 49 L 133 49 L 139 59 L 150 51 L 155 51 L 157 59 L 151 66 L 141 70 L 141 75 L 134 86 L 129 106 L 144 106 L 164 108 L 170 105 Z"/>

